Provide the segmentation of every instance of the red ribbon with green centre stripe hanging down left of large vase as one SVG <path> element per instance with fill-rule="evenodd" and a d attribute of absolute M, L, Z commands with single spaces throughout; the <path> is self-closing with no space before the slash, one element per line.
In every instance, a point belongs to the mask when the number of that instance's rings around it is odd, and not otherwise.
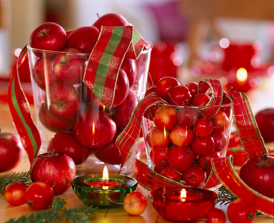
<path fill-rule="evenodd" d="M 21 142 L 27 151 L 30 163 L 37 156 L 41 146 L 39 131 L 32 119 L 30 105 L 22 90 L 18 67 L 27 57 L 27 47 L 24 47 L 17 59 L 17 69 L 13 72 L 8 85 L 7 101 L 12 115 L 14 126 L 20 136 Z"/>

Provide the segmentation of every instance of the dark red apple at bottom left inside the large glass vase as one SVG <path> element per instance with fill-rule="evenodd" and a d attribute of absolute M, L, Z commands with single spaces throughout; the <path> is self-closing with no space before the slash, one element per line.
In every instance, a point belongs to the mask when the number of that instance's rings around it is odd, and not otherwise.
<path fill-rule="evenodd" d="M 89 147 L 77 142 L 71 131 L 60 131 L 56 133 L 48 143 L 48 152 L 52 152 L 53 149 L 56 152 L 69 155 L 75 165 L 83 163 L 90 153 Z"/>

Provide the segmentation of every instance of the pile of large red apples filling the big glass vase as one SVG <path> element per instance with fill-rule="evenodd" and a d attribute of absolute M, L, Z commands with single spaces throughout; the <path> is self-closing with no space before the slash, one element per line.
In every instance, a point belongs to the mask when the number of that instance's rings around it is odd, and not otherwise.
<path fill-rule="evenodd" d="M 58 24 L 46 22 L 30 35 L 30 46 L 37 60 L 33 76 L 44 95 L 39 119 L 56 132 L 48 151 L 70 155 L 75 164 L 84 162 L 91 152 L 103 162 L 121 164 L 115 139 L 126 127 L 137 104 L 138 70 L 136 60 L 124 58 L 116 82 L 112 108 L 106 108 L 82 83 L 89 55 L 96 44 L 101 26 L 126 26 L 121 15 L 107 14 L 92 26 L 65 32 Z M 91 149 L 92 148 L 92 149 Z"/>

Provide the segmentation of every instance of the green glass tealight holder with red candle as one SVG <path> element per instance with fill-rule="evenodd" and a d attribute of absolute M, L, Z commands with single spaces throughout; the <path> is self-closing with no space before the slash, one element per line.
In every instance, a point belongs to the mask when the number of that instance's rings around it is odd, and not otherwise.
<path fill-rule="evenodd" d="M 98 185 L 101 185 L 101 182 L 103 182 L 102 174 L 78 176 L 72 180 L 71 185 L 77 197 L 84 204 L 93 205 L 98 208 L 122 206 L 122 204 L 114 202 L 122 203 L 125 196 L 135 191 L 138 185 L 138 182 L 129 176 L 114 174 L 109 175 L 108 182 L 114 182 L 117 184 L 116 186 L 103 187 L 90 185 L 96 184 L 96 182 L 98 182 Z"/>

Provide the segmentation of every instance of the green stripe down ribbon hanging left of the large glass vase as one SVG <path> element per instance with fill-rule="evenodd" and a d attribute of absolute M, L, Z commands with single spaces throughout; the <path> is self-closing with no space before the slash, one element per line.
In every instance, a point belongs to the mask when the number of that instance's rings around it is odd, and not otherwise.
<path fill-rule="evenodd" d="M 32 142 L 32 146 L 33 146 L 33 159 L 35 158 L 35 154 L 37 152 L 37 144 L 36 144 L 36 141 L 34 139 L 34 136 L 32 134 L 32 130 L 30 129 L 30 127 L 27 125 L 25 119 L 24 119 L 24 116 L 22 115 L 22 112 L 19 108 L 19 104 L 18 104 L 18 101 L 16 99 L 16 94 L 15 94 L 15 78 L 12 80 L 12 103 L 13 103 L 13 106 L 19 116 L 19 118 L 21 119 L 21 122 L 22 124 L 24 125 L 25 127 L 25 130 L 27 131 L 28 133 L 28 137 L 30 138 L 30 141 Z"/>

